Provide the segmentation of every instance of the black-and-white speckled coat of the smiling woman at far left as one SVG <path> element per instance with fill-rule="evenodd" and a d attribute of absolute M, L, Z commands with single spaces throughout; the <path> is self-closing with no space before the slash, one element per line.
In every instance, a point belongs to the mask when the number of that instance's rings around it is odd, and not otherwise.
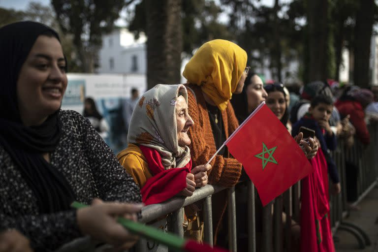
<path fill-rule="evenodd" d="M 59 116 L 63 132 L 50 160 L 66 177 L 76 200 L 140 202 L 139 187 L 91 123 L 74 111 L 61 110 Z M 39 214 L 32 190 L 0 144 L 0 229 L 8 228 L 21 231 L 38 251 L 55 250 L 82 236 L 75 210 Z"/>

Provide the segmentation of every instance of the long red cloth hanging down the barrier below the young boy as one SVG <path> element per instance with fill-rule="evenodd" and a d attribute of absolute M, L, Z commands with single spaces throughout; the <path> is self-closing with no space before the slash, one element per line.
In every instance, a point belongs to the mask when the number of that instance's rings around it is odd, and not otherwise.
<path fill-rule="evenodd" d="M 301 252 L 334 252 L 329 221 L 327 162 L 319 148 L 314 172 L 301 182 Z"/>

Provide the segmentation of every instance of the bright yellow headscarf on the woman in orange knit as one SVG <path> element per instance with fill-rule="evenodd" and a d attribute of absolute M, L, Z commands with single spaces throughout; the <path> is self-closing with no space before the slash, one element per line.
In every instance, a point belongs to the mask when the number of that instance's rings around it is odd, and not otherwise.
<path fill-rule="evenodd" d="M 203 44 L 185 66 L 183 76 L 201 86 L 223 111 L 236 90 L 247 64 L 247 53 L 228 40 L 215 39 Z"/>

